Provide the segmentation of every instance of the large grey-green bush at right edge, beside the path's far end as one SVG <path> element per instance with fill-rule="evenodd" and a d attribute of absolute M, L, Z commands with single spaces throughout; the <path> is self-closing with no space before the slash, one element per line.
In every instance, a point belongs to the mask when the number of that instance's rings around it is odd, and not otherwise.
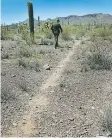
<path fill-rule="evenodd" d="M 93 44 L 86 55 L 86 63 L 90 69 L 106 69 L 112 67 L 112 56 L 110 49 L 101 44 Z"/>

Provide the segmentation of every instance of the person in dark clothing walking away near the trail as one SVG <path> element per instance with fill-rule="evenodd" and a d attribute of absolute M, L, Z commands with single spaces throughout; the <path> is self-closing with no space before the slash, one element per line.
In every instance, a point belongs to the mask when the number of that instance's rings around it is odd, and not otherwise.
<path fill-rule="evenodd" d="M 57 23 L 56 24 L 53 24 L 51 26 L 51 30 L 52 30 L 52 33 L 54 34 L 54 38 L 55 38 L 55 49 L 58 47 L 58 37 L 60 35 L 60 32 L 62 33 L 63 30 L 62 30 L 62 27 L 59 23 L 59 19 L 57 20 Z"/>

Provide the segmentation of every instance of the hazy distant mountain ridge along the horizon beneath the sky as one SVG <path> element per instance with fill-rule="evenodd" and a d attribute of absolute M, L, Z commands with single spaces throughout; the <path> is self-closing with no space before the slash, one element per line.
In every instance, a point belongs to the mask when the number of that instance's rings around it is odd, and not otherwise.
<path fill-rule="evenodd" d="M 83 16 L 77 16 L 77 15 L 69 15 L 67 17 L 58 17 L 60 19 L 60 22 L 63 24 L 112 24 L 112 15 L 110 14 L 102 14 L 102 13 L 95 13 L 95 14 L 87 14 Z M 55 20 L 55 19 L 47 19 L 47 20 Z M 21 23 L 27 23 L 29 24 L 29 20 L 25 20 Z M 43 21 L 41 21 L 43 23 Z M 34 19 L 34 24 L 37 25 L 38 21 Z"/>

